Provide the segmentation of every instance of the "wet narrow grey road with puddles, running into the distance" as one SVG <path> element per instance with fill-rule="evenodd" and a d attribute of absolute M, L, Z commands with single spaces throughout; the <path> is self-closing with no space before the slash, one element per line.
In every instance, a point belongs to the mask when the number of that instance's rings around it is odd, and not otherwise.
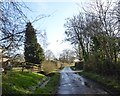
<path fill-rule="evenodd" d="M 97 84 L 91 82 L 76 74 L 70 67 L 65 67 L 60 71 L 60 85 L 57 91 L 57 96 L 61 94 L 108 94 L 101 89 Z"/>

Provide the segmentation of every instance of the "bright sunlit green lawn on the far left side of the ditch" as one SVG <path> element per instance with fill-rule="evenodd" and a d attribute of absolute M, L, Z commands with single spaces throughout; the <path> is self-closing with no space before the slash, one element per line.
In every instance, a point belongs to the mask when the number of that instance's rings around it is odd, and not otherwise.
<path fill-rule="evenodd" d="M 9 71 L 2 76 L 3 94 L 31 94 L 31 86 L 35 86 L 44 77 L 42 74 L 24 71 Z"/>

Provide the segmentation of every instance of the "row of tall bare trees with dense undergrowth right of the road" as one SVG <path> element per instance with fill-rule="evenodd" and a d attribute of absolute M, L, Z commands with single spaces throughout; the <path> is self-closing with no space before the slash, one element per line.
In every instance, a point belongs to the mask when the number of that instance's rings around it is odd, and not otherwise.
<path fill-rule="evenodd" d="M 120 4 L 96 0 L 89 11 L 68 18 L 66 40 L 77 46 L 84 70 L 120 74 Z M 120 78 L 119 78 L 120 79 Z"/>

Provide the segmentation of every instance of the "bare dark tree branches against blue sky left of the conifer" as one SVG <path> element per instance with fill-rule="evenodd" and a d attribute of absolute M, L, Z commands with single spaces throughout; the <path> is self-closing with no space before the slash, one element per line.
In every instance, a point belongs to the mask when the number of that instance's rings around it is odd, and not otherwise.
<path fill-rule="evenodd" d="M 23 28 L 28 20 L 22 12 L 21 8 L 26 7 L 23 5 L 10 0 L 0 2 L 0 43 L 9 51 L 15 51 L 23 43 Z"/>

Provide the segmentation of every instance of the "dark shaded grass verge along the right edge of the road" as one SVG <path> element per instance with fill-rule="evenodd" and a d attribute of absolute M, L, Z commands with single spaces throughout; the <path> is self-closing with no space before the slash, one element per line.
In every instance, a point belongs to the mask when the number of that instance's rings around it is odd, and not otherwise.
<path fill-rule="evenodd" d="M 73 70 L 79 70 L 74 66 L 72 66 L 71 68 Z M 120 94 L 120 81 L 117 80 L 115 76 L 103 76 L 97 73 L 85 71 L 81 72 L 80 75 L 83 75 L 84 77 L 103 85 L 109 91 L 111 91 L 111 94 Z"/>

